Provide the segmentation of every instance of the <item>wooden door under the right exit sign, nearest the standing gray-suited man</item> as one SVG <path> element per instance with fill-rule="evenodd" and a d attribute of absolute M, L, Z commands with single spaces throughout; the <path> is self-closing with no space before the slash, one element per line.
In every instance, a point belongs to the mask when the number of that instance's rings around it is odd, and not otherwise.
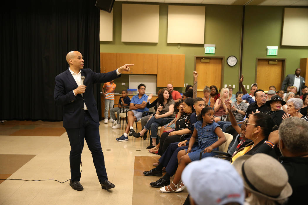
<path fill-rule="evenodd" d="M 277 62 L 277 64 L 269 64 L 269 61 Z M 266 92 L 271 85 L 274 85 L 276 90 L 280 90 L 284 77 L 283 64 L 284 60 L 257 59 L 256 82 L 258 89 Z"/>

